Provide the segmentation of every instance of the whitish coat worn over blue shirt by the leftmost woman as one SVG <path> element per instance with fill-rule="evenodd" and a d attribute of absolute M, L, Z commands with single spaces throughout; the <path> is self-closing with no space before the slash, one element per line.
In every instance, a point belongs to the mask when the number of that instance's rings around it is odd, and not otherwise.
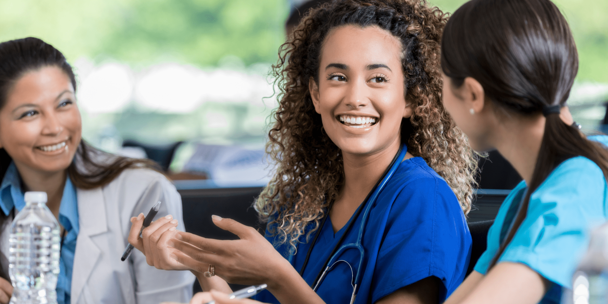
<path fill-rule="evenodd" d="M 72 273 L 72 304 L 158 304 L 189 302 L 194 275 L 189 271 L 164 271 L 146 263 L 133 249 L 120 261 L 128 244 L 131 216 L 148 214 L 157 201 L 156 218 L 167 214 L 184 230 L 181 197 L 161 173 L 145 168 L 123 171 L 108 185 L 77 189 L 80 232 Z"/>

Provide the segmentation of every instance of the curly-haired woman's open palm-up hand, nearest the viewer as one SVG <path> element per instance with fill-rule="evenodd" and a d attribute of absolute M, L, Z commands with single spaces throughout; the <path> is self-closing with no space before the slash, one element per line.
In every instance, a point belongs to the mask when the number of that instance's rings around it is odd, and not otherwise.
<path fill-rule="evenodd" d="M 174 252 L 172 258 L 201 273 L 213 264 L 215 274 L 228 283 L 265 283 L 269 289 L 279 284 L 284 270 L 293 270 L 291 264 L 254 227 L 215 215 L 212 218 L 216 226 L 234 233 L 240 240 L 213 240 L 179 232 L 173 239 L 173 247 L 179 251 Z"/>

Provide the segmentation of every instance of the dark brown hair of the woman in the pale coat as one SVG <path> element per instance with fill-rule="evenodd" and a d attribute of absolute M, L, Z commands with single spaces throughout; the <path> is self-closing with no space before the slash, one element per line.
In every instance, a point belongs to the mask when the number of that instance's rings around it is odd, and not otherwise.
<path fill-rule="evenodd" d="M 0 43 L 0 108 L 16 81 L 30 71 L 41 67 L 56 66 L 70 78 L 76 91 L 76 78 L 72 66 L 55 47 L 44 41 L 28 37 Z M 0 149 L 0 178 L 12 162 L 10 155 Z M 115 156 L 95 149 L 81 140 L 72 163 L 67 167 L 74 186 L 81 189 L 102 187 L 131 167 L 150 168 L 161 172 L 159 166 L 147 159 L 131 159 Z"/>

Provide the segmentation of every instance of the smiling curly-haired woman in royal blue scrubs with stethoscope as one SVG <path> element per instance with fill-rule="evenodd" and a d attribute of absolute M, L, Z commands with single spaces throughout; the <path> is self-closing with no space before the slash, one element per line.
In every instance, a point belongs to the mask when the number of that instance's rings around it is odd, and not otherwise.
<path fill-rule="evenodd" d="M 274 66 L 278 168 L 255 204 L 267 238 L 213 216 L 240 240 L 162 223 L 142 240 L 134 220 L 131 243 L 157 268 L 192 269 L 206 290 L 266 283 L 264 302 L 443 302 L 468 266 L 476 164 L 441 104 L 445 22 L 420 0 L 311 10 Z M 359 235 L 362 248 L 340 249 Z"/>

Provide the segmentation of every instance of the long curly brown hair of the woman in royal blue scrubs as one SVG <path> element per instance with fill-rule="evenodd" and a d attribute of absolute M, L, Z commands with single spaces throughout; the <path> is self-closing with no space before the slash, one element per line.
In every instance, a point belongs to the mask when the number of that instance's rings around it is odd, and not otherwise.
<path fill-rule="evenodd" d="M 277 173 L 255 203 L 261 220 L 278 243 L 295 249 L 319 228 L 326 207 L 344 184 L 340 149 L 323 131 L 314 111 L 309 79 L 319 81 L 323 40 L 331 29 L 347 24 L 378 26 L 402 44 L 405 99 L 412 117 L 401 123 L 401 141 L 421 156 L 454 190 L 466 213 L 471 209 L 477 156 L 441 103 L 440 42 L 447 14 L 426 0 L 336 0 L 310 10 L 279 49 L 273 66 L 280 88 L 276 120 L 266 151 Z"/>

